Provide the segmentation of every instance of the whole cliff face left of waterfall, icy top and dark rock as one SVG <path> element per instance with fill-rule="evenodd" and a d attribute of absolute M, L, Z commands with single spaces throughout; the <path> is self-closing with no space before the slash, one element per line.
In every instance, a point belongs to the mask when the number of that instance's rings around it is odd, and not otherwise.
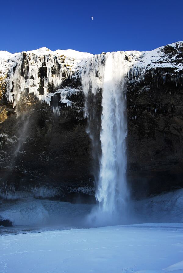
<path fill-rule="evenodd" d="M 91 54 L 64 52 L 41 48 L 2 62 L 10 66 L 1 101 L 3 198 L 94 193 L 79 73 Z"/>

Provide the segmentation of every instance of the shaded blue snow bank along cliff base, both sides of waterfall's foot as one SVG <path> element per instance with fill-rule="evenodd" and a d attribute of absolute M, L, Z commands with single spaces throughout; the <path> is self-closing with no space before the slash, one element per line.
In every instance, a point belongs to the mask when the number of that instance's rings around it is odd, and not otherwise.
<path fill-rule="evenodd" d="M 0 203 L 0 220 L 9 220 L 16 225 L 60 225 L 61 227 L 96 227 L 102 225 L 139 223 L 182 223 L 183 189 L 149 199 L 130 202 L 128 217 L 106 223 L 102 218 L 97 222 L 96 205 L 71 204 L 61 201 L 23 198 Z M 91 212 L 92 211 L 92 212 Z M 151 225 L 151 224 L 150 224 Z M 160 224 L 159 224 L 160 225 Z"/>

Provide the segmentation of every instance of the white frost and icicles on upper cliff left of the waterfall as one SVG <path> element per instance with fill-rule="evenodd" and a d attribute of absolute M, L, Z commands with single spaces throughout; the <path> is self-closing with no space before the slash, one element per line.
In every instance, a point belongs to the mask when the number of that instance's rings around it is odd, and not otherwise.
<path fill-rule="evenodd" d="M 29 93 L 34 93 L 41 102 L 50 104 L 51 97 L 59 91 L 49 93 L 48 84 L 56 89 L 61 86 L 65 78 L 73 77 L 74 79 L 76 73 L 79 73 L 86 59 L 90 56 L 92 54 L 74 50 L 56 50 L 53 52 L 48 48 L 39 48 L 16 54 L 0 52 L 0 76 L 4 77 L 8 74 L 5 80 L 7 82 L 6 96 L 8 101 L 13 102 L 13 105 L 16 106 L 21 95 L 25 92 L 25 88 L 29 88 Z M 27 62 L 27 71 L 25 71 L 26 68 L 22 67 L 23 60 Z M 41 81 L 40 67 L 43 67 L 47 74 L 47 77 L 43 79 L 43 94 L 40 94 L 38 89 Z M 22 76 L 22 70 L 26 77 Z M 55 73 L 52 73 L 52 70 Z M 66 98 L 61 97 L 62 99 Z M 71 102 L 68 102 L 67 105 L 70 106 Z"/>

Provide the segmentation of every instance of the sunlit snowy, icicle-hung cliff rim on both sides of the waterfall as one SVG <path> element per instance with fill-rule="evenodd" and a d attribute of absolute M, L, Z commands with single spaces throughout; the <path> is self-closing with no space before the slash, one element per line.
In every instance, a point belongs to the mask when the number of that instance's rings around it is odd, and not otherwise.
<path fill-rule="evenodd" d="M 81 73 L 84 71 L 87 60 L 97 59 L 99 56 L 105 59 L 105 54 L 93 55 L 86 52 L 78 52 L 72 49 L 52 51 L 46 47 L 21 53 L 9 53 L 0 51 L 0 87 L 5 82 L 6 98 L 15 106 L 21 94 L 27 89 L 34 93 L 37 98 L 50 105 L 51 97 L 59 93 L 59 89 L 67 87 L 63 102 L 71 106 L 68 101 L 68 87 L 76 89 L 76 81 L 81 85 Z M 182 77 L 183 71 L 183 42 L 176 42 L 170 45 L 156 48 L 152 51 L 126 51 L 125 61 L 131 68 L 131 74 L 142 81 L 148 70 L 159 68 L 172 69 L 171 73 L 165 71 L 163 82 L 167 74 L 173 81 Z M 152 71 L 152 74 L 154 72 Z M 178 75 L 179 73 L 179 75 Z M 153 77 L 153 76 L 152 76 Z M 68 84 L 70 79 L 74 84 Z M 64 84 L 63 84 L 64 83 Z"/>

